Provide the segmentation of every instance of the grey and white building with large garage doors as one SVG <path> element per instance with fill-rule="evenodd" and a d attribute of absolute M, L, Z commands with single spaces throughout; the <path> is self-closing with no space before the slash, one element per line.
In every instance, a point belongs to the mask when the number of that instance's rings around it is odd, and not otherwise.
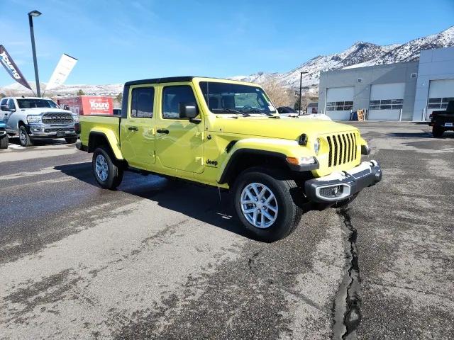
<path fill-rule="evenodd" d="M 421 51 L 419 62 L 321 72 L 319 113 L 348 120 L 365 109 L 367 120 L 427 120 L 454 100 L 454 47 Z"/>

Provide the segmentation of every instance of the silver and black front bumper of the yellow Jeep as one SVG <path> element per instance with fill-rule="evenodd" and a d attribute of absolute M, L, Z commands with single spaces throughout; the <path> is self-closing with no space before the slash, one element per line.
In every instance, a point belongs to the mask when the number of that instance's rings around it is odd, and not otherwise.
<path fill-rule="evenodd" d="M 378 162 L 362 162 L 348 171 L 336 171 L 328 176 L 306 181 L 306 197 L 316 203 L 336 203 L 381 180 L 382 169 Z"/>

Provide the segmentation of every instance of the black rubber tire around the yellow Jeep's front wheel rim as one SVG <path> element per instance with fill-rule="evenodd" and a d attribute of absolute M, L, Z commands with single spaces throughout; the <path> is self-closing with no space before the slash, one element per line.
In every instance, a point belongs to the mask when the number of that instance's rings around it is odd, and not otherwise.
<path fill-rule="evenodd" d="M 267 212 L 274 215 L 272 217 L 275 217 L 275 221 L 272 222 L 269 227 L 263 229 L 255 227 L 255 225 L 248 221 L 242 210 L 241 198 L 243 190 L 247 186 L 252 185 L 252 183 L 260 183 L 266 186 L 275 196 L 275 203 L 277 203 L 276 214 L 267 210 L 265 207 Z M 262 188 L 263 187 L 261 187 L 261 189 Z M 236 179 L 233 186 L 233 205 L 235 206 L 239 220 L 254 239 L 258 239 L 262 242 L 275 242 L 292 234 L 294 229 L 298 226 L 303 212 L 299 205 L 296 204 L 301 196 L 302 193 L 298 188 L 297 183 L 290 179 L 285 172 L 276 169 L 258 167 L 247 169 L 238 176 L 238 179 Z M 250 207 L 250 205 L 247 206 L 248 208 Z M 252 208 L 257 207 L 255 207 L 255 204 L 252 204 Z M 261 215 L 258 216 L 260 216 L 261 219 Z M 269 222 L 271 222 L 271 220 L 269 220 Z M 266 224 L 266 220 L 264 224 Z"/>

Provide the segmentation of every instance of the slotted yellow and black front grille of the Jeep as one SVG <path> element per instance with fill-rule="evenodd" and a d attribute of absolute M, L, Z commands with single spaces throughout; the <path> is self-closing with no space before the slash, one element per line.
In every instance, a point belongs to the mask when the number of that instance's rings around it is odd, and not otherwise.
<path fill-rule="evenodd" d="M 338 166 L 356 160 L 356 135 L 354 132 L 326 137 L 329 145 L 328 166 Z"/>

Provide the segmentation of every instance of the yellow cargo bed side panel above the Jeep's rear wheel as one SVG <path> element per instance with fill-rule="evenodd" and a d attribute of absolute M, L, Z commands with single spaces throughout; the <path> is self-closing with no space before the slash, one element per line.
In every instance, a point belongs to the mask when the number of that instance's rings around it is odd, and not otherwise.
<path fill-rule="evenodd" d="M 90 132 L 103 130 L 115 133 L 116 139 L 120 141 L 120 121 L 119 115 L 81 115 L 80 120 L 80 141 L 82 145 L 88 145 Z"/>

